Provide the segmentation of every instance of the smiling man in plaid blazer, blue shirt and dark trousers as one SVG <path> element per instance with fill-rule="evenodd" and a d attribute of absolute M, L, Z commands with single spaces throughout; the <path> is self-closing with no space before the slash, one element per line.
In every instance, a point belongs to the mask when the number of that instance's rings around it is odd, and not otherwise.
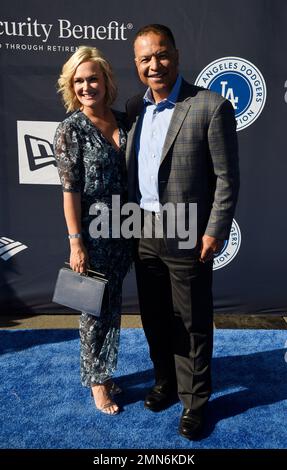
<path fill-rule="evenodd" d="M 142 236 L 138 243 L 139 302 L 155 372 L 145 407 L 160 411 L 177 391 L 179 433 L 196 439 L 211 394 L 213 257 L 229 237 L 239 188 L 236 122 L 229 101 L 178 74 L 169 28 L 143 27 L 134 51 L 148 89 L 127 104 L 129 199 L 154 227 L 160 204 L 197 204 L 196 246 L 181 249 L 164 220 L 162 238 Z"/>

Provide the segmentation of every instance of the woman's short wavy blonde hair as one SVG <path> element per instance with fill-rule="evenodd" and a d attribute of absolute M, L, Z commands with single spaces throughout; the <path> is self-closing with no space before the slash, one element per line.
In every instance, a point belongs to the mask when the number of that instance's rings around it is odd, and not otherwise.
<path fill-rule="evenodd" d="M 111 105 L 117 96 L 117 86 L 112 68 L 101 51 L 96 47 L 80 46 L 77 51 L 63 65 L 62 73 L 58 79 L 58 92 L 61 93 L 67 112 L 76 111 L 81 103 L 76 97 L 73 77 L 78 66 L 83 62 L 96 62 L 101 67 L 106 85 L 105 102 Z"/>

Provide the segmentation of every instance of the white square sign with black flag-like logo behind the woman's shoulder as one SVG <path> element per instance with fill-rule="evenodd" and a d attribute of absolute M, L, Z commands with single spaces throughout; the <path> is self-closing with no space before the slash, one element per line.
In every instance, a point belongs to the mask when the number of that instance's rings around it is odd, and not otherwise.
<path fill-rule="evenodd" d="M 17 121 L 19 182 L 60 184 L 53 154 L 57 122 Z"/>

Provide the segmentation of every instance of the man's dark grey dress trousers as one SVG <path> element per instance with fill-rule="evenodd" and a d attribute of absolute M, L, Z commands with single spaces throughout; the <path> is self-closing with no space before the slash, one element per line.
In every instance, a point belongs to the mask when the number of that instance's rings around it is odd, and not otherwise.
<path fill-rule="evenodd" d="M 140 239 L 136 276 L 156 382 L 177 382 L 184 408 L 211 395 L 212 262 L 168 254 L 163 239 Z"/>

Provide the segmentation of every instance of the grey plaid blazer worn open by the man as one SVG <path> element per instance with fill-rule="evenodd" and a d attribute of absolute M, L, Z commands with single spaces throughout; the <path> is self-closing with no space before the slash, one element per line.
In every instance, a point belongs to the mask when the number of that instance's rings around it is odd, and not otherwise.
<path fill-rule="evenodd" d="M 127 103 L 126 160 L 132 202 L 138 202 L 135 130 L 143 106 L 139 95 Z M 230 101 L 183 80 L 162 150 L 158 189 L 162 205 L 197 203 L 198 240 L 204 233 L 229 238 L 239 190 L 236 120 Z M 175 246 L 169 243 L 172 251 Z"/>

